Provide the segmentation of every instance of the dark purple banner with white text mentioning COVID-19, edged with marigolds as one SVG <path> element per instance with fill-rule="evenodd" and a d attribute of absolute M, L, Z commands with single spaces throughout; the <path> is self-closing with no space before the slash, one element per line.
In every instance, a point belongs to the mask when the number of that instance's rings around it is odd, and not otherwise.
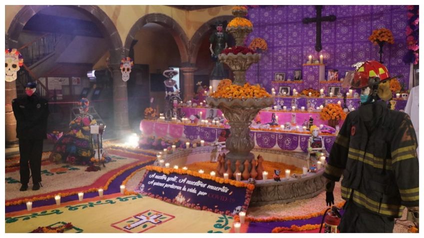
<path fill-rule="evenodd" d="M 147 166 L 136 192 L 188 208 L 229 216 L 246 211 L 254 185 L 193 171 Z"/>

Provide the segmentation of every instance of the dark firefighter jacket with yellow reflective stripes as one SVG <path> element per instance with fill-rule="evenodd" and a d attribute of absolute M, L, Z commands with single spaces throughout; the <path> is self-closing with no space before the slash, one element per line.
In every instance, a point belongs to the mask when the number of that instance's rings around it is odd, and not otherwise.
<path fill-rule="evenodd" d="M 323 176 L 341 181 L 341 197 L 378 215 L 400 218 L 418 206 L 416 135 L 406 113 L 377 101 L 350 112 Z"/>

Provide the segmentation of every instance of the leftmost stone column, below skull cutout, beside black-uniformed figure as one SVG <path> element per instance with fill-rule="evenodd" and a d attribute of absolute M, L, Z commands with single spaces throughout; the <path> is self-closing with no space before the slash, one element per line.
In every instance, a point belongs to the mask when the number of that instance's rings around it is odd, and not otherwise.
<path fill-rule="evenodd" d="M 18 146 L 18 139 L 16 138 L 16 119 L 13 115 L 12 100 L 16 98 L 16 80 L 12 82 L 5 82 L 5 134 L 6 134 L 6 147 Z"/>

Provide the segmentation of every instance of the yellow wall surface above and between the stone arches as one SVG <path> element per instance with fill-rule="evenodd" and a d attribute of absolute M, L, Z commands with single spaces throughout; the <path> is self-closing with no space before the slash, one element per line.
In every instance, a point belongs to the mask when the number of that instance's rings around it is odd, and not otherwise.
<path fill-rule="evenodd" d="M 194 32 L 209 19 L 219 15 L 230 15 L 232 6 L 217 6 L 201 10 L 185 11 L 165 5 L 98 5 L 115 24 L 122 40 L 132 25 L 143 15 L 148 13 L 162 13 L 173 18 L 185 31 L 188 39 Z M 5 31 L 10 22 L 23 5 L 5 5 Z"/>

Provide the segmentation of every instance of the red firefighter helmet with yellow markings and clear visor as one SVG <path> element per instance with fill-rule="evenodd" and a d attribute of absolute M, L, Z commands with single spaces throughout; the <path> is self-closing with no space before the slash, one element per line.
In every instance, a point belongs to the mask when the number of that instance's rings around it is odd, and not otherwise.
<path fill-rule="evenodd" d="M 343 87 L 364 88 L 392 79 L 387 68 L 380 62 L 369 60 L 357 63 L 356 71 L 349 71 L 343 80 Z"/>

